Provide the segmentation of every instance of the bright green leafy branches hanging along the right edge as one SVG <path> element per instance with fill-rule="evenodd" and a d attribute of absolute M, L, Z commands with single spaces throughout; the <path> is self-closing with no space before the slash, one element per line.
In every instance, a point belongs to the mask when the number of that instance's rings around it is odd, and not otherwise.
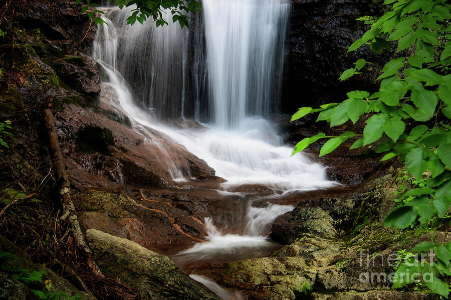
<path fill-rule="evenodd" d="M 349 47 L 349 51 L 368 45 L 376 53 L 384 49 L 397 52 L 397 58 L 388 61 L 377 78 L 379 90 L 350 91 L 341 103 L 301 107 L 292 117 L 296 120 L 308 113 L 318 113 L 317 121 L 327 121 L 333 127 L 349 120 L 355 124 L 363 115 L 370 114 L 363 134 L 348 131 L 332 137 L 318 133 L 298 142 L 292 155 L 320 138 L 329 138 L 320 156 L 349 137 L 359 137 L 350 149 L 381 139 L 375 151 L 385 153 L 382 161 L 398 157 L 416 180 L 430 170 L 430 177 L 421 186 L 401 196 L 409 200 L 384 220 L 386 226 L 405 228 L 416 220 L 424 223 L 435 215 L 443 217 L 451 203 L 451 4 L 445 0 L 385 0 L 385 4 L 391 4 L 390 11 L 377 20 L 371 19 L 370 29 Z M 396 49 L 391 49 L 393 44 L 397 44 Z M 367 63 L 357 60 L 339 79 L 360 73 Z M 449 245 L 428 246 L 437 253 L 440 263 L 415 270 L 430 271 L 434 276 L 451 275 Z M 407 267 L 401 265 L 397 272 L 405 272 Z M 448 286 L 441 279 L 434 277 L 426 285 L 447 297 Z"/>

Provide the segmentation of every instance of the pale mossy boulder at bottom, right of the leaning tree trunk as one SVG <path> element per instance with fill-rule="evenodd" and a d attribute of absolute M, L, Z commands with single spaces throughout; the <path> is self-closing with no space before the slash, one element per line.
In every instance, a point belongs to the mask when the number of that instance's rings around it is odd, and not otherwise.
<path fill-rule="evenodd" d="M 95 229 L 86 238 L 101 270 L 136 286 L 144 299 L 217 299 L 167 256 Z"/>

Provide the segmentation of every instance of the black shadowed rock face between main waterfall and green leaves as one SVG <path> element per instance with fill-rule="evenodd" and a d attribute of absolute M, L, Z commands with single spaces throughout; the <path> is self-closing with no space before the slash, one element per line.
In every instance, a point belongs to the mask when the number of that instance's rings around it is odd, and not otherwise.
<path fill-rule="evenodd" d="M 358 58 L 375 61 L 375 55 L 366 45 L 350 53 L 347 50 L 365 30 L 363 22 L 355 19 L 380 14 L 382 1 L 291 2 L 293 11 L 283 79 L 283 110 L 293 113 L 301 106 L 338 102 L 353 89 L 372 90 L 376 72 L 381 67 L 379 64 L 367 66 L 363 69 L 364 74 L 341 83 L 338 77 L 345 69 L 353 67 Z"/>

